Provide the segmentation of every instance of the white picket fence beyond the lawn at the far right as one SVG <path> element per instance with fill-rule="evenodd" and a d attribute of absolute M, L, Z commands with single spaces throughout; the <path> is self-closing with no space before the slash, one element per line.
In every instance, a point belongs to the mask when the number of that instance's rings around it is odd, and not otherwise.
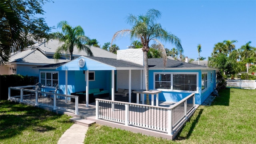
<path fill-rule="evenodd" d="M 226 80 L 227 88 L 256 89 L 256 80 Z"/>

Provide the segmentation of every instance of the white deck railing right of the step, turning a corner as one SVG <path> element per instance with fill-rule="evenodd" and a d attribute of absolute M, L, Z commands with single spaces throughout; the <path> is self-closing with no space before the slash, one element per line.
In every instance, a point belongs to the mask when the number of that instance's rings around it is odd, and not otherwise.
<path fill-rule="evenodd" d="M 170 106 L 96 99 L 96 119 L 153 129 L 173 135 L 195 110 L 195 94 Z"/>

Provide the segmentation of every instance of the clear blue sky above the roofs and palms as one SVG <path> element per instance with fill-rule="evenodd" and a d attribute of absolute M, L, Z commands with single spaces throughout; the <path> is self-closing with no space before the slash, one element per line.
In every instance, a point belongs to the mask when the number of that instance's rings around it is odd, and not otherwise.
<path fill-rule="evenodd" d="M 131 28 L 126 24 L 128 14 L 138 16 L 151 8 L 162 13 L 158 22 L 181 39 L 184 55 L 189 58 L 198 58 L 198 44 L 202 45 L 200 56 L 206 58 L 214 44 L 223 40 L 238 40 L 236 49 L 248 41 L 256 47 L 256 0 L 54 0 L 43 6 L 46 14 L 42 17 L 48 26 L 56 26 L 62 20 L 73 27 L 80 25 L 85 35 L 97 39 L 102 47 L 111 42 L 115 32 Z M 132 41 L 125 36 L 114 44 L 122 50 Z"/>

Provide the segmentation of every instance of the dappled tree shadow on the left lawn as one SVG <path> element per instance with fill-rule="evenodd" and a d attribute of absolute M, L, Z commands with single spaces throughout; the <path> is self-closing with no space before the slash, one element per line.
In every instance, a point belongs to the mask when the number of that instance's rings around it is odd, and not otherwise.
<path fill-rule="evenodd" d="M 46 132 L 55 130 L 48 121 L 57 120 L 60 115 L 40 108 L 1 101 L 0 139 L 12 138 L 22 134 L 24 130 Z M 64 123 L 64 122 L 63 122 Z"/>

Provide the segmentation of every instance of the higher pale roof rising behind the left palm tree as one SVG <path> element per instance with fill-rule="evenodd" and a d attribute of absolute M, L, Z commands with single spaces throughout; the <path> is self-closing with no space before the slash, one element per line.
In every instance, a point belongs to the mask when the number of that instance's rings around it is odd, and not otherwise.
<path fill-rule="evenodd" d="M 40 50 L 42 50 L 45 53 L 55 53 L 57 48 L 59 46 L 62 46 L 64 42 L 59 42 L 58 40 L 50 39 L 46 41 L 45 43 L 36 43 L 31 47 L 38 47 Z M 94 56 L 96 57 L 104 57 L 104 58 L 116 58 L 116 54 L 109 52 L 107 50 L 103 50 L 98 47 L 90 46 L 90 49 Z M 74 46 L 73 55 L 79 55 L 79 56 L 87 56 L 86 52 L 79 51 L 76 46 Z"/>

